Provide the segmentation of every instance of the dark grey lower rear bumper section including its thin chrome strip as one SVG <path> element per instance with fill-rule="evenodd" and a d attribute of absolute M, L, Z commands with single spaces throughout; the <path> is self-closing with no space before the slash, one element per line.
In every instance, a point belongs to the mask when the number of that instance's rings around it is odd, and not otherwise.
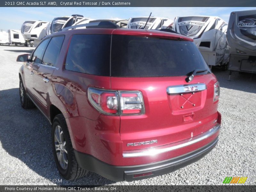
<path fill-rule="evenodd" d="M 100 161 L 99 159 L 78 152 L 75 150 L 75 155 L 78 164 L 91 172 L 96 172 L 103 177 L 113 181 L 132 181 L 155 177 L 158 175 L 167 174 L 180 169 L 188 164 L 194 163 L 204 155 L 209 153 L 217 144 L 218 137 L 211 143 L 196 149 L 192 152 L 150 164 L 132 165 L 132 166 L 114 166 Z M 144 174 L 144 175 L 143 175 Z M 134 175 L 137 175 L 135 177 Z"/>

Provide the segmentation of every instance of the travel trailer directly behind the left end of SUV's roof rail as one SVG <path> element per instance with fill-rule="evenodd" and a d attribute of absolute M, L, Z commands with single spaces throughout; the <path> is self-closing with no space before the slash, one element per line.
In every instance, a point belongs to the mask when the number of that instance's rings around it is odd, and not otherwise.
<path fill-rule="evenodd" d="M 64 16 L 64 17 L 56 17 L 52 20 L 50 30 L 47 32 L 48 35 L 58 32 L 63 28 L 70 27 L 74 25 L 75 23 L 78 24 L 79 21 L 85 21 L 89 20 L 88 18 L 84 18 L 83 15 L 71 15 L 71 16 Z M 82 24 L 82 23 L 79 23 Z"/>

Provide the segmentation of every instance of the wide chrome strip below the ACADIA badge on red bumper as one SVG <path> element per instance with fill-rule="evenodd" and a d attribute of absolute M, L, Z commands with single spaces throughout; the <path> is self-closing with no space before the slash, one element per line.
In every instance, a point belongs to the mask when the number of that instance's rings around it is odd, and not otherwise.
<path fill-rule="evenodd" d="M 141 157 L 141 156 L 154 156 L 154 155 L 157 155 L 160 153 L 166 153 L 166 152 L 176 150 L 179 148 L 183 148 L 183 147 L 187 147 L 189 145 L 192 145 L 199 141 L 202 141 L 208 137 L 211 137 L 213 134 L 215 134 L 219 130 L 220 130 L 220 124 L 217 124 L 207 132 L 204 132 L 200 135 L 189 138 L 187 140 L 183 140 L 183 141 L 179 141 L 176 143 L 166 145 L 166 148 L 155 147 L 155 148 L 148 148 L 148 149 L 124 151 L 123 157 L 129 158 L 129 157 Z M 162 146 L 160 146 L 160 147 L 162 147 Z"/>

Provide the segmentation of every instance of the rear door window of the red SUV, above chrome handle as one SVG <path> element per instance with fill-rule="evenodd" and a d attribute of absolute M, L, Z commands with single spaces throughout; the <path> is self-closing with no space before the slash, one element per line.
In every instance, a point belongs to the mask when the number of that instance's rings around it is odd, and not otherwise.
<path fill-rule="evenodd" d="M 52 37 L 43 58 L 44 65 L 56 66 L 64 36 Z"/>

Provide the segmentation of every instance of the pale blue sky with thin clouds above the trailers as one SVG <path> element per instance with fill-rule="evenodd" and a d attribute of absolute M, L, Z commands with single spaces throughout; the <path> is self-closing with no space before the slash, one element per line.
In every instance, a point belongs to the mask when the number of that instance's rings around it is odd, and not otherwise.
<path fill-rule="evenodd" d="M 228 22 L 230 12 L 253 10 L 255 7 L 1 7 L 0 30 L 20 29 L 26 20 L 52 21 L 54 17 L 84 15 L 91 19 L 152 16 L 174 19 L 178 16 L 219 16 Z"/>

